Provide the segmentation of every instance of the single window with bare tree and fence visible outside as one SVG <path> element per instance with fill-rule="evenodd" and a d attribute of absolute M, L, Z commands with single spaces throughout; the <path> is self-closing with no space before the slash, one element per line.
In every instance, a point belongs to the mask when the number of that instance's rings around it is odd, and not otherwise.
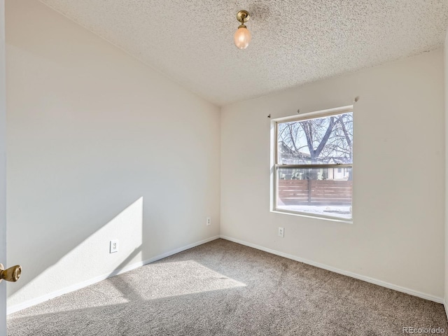
<path fill-rule="evenodd" d="M 353 111 L 274 121 L 274 211 L 351 220 Z"/>

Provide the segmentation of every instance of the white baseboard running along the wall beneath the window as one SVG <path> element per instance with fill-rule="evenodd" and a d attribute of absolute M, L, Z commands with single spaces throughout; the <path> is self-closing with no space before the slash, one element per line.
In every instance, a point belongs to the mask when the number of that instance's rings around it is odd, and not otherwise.
<path fill-rule="evenodd" d="M 378 285 L 378 286 L 382 286 L 382 287 L 386 287 L 386 288 L 389 288 L 389 289 L 397 290 L 398 292 L 407 293 L 409 295 L 414 295 L 414 296 L 417 296 L 417 297 L 421 297 L 422 299 L 434 301 L 434 302 L 437 302 L 437 303 L 442 303 L 442 304 L 445 303 L 444 299 L 442 297 L 437 297 L 437 296 L 434 296 L 434 295 L 421 293 L 421 292 L 419 292 L 417 290 L 412 290 L 412 289 L 405 288 L 405 287 L 402 287 L 402 286 L 397 286 L 397 285 L 394 285 L 393 283 L 388 283 L 388 282 L 381 281 L 381 280 L 378 280 L 378 279 L 370 278 L 369 276 L 364 276 L 364 275 L 356 274 L 356 273 L 353 273 L 353 272 L 344 271 L 343 269 L 338 269 L 338 268 L 335 268 L 335 267 L 331 267 L 331 266 L 328 266 L 328 265 L 321 264 L 320 262 L 314 262 L 312 260 L 299 258 L 299 257 L 296 257 L 295 255 L 291 255 L 291 254 L 288 254 L 288 253 L 283 253 L 283 252 L 280 252 L 280 251 L 272 250 L 271 248 L 265 248 L 263 246 L 259 246 L 259 245 L 252 244 L 252 243 L 248 243 L 247 241 L 243 241 L 243 240 L 239 240 L 239 239 L 235 239 L 235 238 L 227 237 L 227 236 L 223 236 L 223 235 L 221 235 L 220 237 L 222 239 L 233 241 L 233 242 L 241 244 L 241 245 L 245 245 L 245 246 L 249 246 L 249 247 L 252 247 L 252 248 L 256 248 L 256 249 L 261 250 L 261 251 L 265 251 L 267 253 L 272 253 L 272 254 L 275 254 L 275 255 L 280 255 L 281 257 L 284 257 L 284 258 L 288 258 L 288 259 L 292 259 L 292 260 L 295 260 L 295 261 L 303 262 L 304 264 L 307 264 L 307 265 L 311 265 L 311 266 L 316 266 L 316 267 L 319 267 L 319 268 L 327 269 L 328 271 L 331 271 L 331 272 L 339 273 L 339 274 L 342 274 L 342 275 L 350 276 L 350 277 L 355 278 L 355 279 L 359 279 L 359 280 L 363 280 L 363 281 L 366 281 L 366 282 L 374 283 L 375 285 Z M 445 307 L 445 310 L 447 311 L 447 316 L 448 316 L 447 305 L 444 304 L 444 307 Z"/>

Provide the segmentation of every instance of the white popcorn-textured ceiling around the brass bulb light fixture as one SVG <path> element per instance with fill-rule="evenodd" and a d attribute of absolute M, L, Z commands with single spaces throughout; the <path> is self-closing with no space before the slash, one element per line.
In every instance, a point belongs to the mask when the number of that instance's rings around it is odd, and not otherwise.
<path fill-rule="evenodd" d="M 448 26 L 447 0 L 41 1 L 218 105 L 440 48 Z"/>

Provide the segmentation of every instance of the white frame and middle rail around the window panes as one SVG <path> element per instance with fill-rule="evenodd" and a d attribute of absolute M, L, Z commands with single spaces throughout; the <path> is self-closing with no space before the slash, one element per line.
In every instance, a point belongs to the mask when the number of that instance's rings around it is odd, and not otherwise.
<path fill-rule="evenodd" d="M 341 217 L 335 217 L 335 216 L 327 216 L 327 215 L 321 215 L 321 214 L 311 214 L 308 212 L 301 212 L 301 211 L 291 211 L 286 209 L 278 209 L 277 206 L 277 169 L 281 167 L 295 167 L 295 168 L 351 168 L 352 174 L 353 174 L 353 162 L 351 164 L 335 164 L 335 165 L 279 165 L 279 123 L 289 123 L 293 121 L 304 121 L 304 120 L 310 120 L 310 119 L 316 119 L 316 118 L 323 118 L 323 117 L 329 117 L 329 116 L 335 116 L 337 114 L 343 114 L 343 113 L 354 113 L 353 111 L 353 105 L 349 106 L 342 106 L 335 109 L 328 109 L 323 111 L 314 111 L 309 113 L 303 113 L 300 116 L 289 116 L 289 117 L 283 117 L 283 118 L 276 118 L 271 120 L 271 195 L 270 195 L 270 211 L 279 213 L 279 214 L 288 214 L 288 215 L 295 215 L 295 216 L 302 216 L 302 217 L 308 217 L 308 218 L 318 218 L 328 221 L 336 221 L 336 222 L 343 222 L 343 223 L 353 223 L 353 212 L 351 213 L 351 218 L 341 218 Z M 354 118 L 353 118 L 354 122 Z M 353 176 L 353 175 L 352 175 Z M 353 179 L 352 179 L 353 181 Z M 352 182 L 353 183 L 353 182 Z M 351 207 L 353 208 L 353 198 L 351 200 Z"/>

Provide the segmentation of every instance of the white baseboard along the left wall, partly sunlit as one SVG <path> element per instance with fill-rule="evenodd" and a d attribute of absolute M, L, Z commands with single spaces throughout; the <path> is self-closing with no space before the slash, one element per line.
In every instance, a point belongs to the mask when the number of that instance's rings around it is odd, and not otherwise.
<path fill-rule="evenodd" d="M 71 292 L 73 292 L 75 290 L 78 290 L 80 288 L 84 288 L 84 287 L 90 286 L 90 285 L 92 285 L 94 283 L 97 283 L 99 281 L 106 280 L 106 279 L 110 278 L 111 276 L 116 276 L 118 274 L 123 274 L 125 272 L 129 272 L 132 269 L 136 269 L 136 268 L 141 267 L 143 265 L 151 264 L 151 262 L 155 262 L 157 260 L 160 260 L 160 259 L 163 259 L 163 258 L 167 258 L 170 255 L 174 255 L 176 253 L 179 253 L 179 252 L 182 252 L 182 251 L 186 251 L 186 250 L 188 250 L 190 248 L 193 248 L 193 247 L 196 247 L 196 246 L 200 246 L 202 244 L 208 243 L 209 241 L 213 241 L 213 240 L 216 240 L 218 238 L 219 238 L 219 236 L 214 236 L 214 237 L 210 237 L 210 238 L 207 238 L 207 239 L 204 239 L 204 240 L 201 240 L 201 241 L 197 241 L 197 242 L 195 242 L 193 244 L 189 244 L 187 246 L 176 248 L 173 251 L 169 251 L 167 253 L 156 255 L 155 257 L 153 257 L 151 259 L 140 261 L 140 262 L 136 262 L 136 263 L 134 263 L 132 265 L 128 265 L 128 266 L 123 267 L 121 269 L 115 269 L 111 273 L 95 276 L 94 278 L 89 279 L 87 281 L 83 281 L 83 282 L 80 282 L 80 283 L 76 283 L 76 284 L 74 284 L 72 286 L 66 287 L 66 288 L 55 290 L 52 293 L 48 293 L 48 294 L 42 295 L 40 297 L 36 297 L 35 299 L 28 300 L 28 301 L 22 302 L 20 304 L 15 304 L 15 305 L 7 308 L 7 313 L 6 314 L 8 314 L 8 315 L 9 314 L 13 314 L 13 313 L 15 313 L 17 311 L 20 311 L 20 310 L 28 308 L 28 307 L 32 307 L 32 306 L 34 306 L 36 304 L 39 304 L 41 302 L 48 301 L 48 300 L 53 299 L 55 297 L 58 297 L 58 296 L 61 296 L 61 295 L 67 294 L 67 293 L 71 293 Z"/>

